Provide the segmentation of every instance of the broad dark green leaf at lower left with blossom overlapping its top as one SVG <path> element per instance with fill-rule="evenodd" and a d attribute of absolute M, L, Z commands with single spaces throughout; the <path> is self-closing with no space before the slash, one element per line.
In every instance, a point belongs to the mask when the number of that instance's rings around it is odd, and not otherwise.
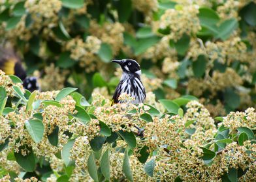
<path fill-rule="evenodd" d="M 25 171 L 27 172 L 33 172 L 35 170 L 35 156 L 33 153 L 33 150 L 31 147 L 26 146 L 27 152 L 29 152 L 27 155 L 22 155 L 21 150 L 24 149 L 24 146 L 19 148 L 18 153 L 14 153 L 16 162 L 24 168 Z"/>

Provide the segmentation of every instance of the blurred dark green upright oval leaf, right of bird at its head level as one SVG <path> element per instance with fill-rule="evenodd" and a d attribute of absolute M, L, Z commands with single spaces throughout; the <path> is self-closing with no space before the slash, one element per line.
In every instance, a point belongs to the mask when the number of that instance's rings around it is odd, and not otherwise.
<path fill-rule="evenodd" d="M 204 55 L 199 55 L 196 61 L 193 62 L 193 73 L 195 77 L 200 78 L 206 70 L 207 60 Z"/>

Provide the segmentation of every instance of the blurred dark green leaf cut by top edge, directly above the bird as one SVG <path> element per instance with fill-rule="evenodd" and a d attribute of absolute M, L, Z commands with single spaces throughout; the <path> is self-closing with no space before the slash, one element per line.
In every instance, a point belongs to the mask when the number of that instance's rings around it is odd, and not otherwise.
<path fill-rule="evenodd" d="M 116 2 L 118 10 L 118 19 L 120 23 L 124 23 L 131 16 L 132 3 L 131 0 L 120 0 Z"/>

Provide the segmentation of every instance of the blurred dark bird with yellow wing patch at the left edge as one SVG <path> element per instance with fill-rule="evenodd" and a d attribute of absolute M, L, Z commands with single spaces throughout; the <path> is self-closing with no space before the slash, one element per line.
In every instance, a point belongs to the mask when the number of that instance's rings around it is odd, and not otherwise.
<path fill-rule="evenodd" d="M 28 77 L 22 66 L 22 61 L 12 49 L 0 47 L 0 69 L 7 75 L 16 75 L 23 81 L 25 89 L 33 92 L 39 90 L 37 77 Z"/>

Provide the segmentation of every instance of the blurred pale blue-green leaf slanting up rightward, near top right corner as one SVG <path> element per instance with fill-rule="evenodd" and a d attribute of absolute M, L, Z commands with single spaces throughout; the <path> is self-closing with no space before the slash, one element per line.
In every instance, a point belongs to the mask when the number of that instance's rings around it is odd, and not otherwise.
<path fill-rule="evenodd" d="M 238 28 L 238 21 L 235 18 L 227 19 L 219 25 L 219 34 L 216 38 L 227 40 L 229 36 Z"/>

